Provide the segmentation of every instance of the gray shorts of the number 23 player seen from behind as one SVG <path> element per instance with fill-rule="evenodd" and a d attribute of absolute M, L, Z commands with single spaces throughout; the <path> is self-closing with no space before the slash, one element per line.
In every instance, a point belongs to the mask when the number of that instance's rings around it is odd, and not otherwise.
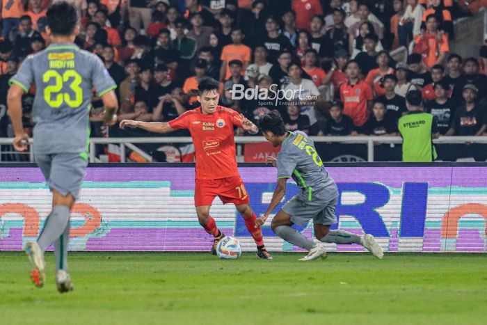
<path fill-rule="evenodd" d="M 63 153 L 36 154 L 35 161 L 50 189 L 55 189 L 63 196 L 72 193 L 74 199 L 78 200 L 88 160 L 83 159 L 79 154 Z"/>

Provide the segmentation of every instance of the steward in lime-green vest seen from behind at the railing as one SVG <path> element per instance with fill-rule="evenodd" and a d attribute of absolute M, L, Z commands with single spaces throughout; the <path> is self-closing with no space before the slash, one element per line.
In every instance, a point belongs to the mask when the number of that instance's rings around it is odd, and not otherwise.
<path fill-rule="evenodd" d="M 419 90 L 411 90 L 406 94 L 408 113 L 397 122 L 399 133 L 403 138 L 402 161 L 428 162 L 434 161 L 438 155 L 433 145 L 433 138 L 438 138 L 436 118 L 424 113 L 422 95 Z"/>

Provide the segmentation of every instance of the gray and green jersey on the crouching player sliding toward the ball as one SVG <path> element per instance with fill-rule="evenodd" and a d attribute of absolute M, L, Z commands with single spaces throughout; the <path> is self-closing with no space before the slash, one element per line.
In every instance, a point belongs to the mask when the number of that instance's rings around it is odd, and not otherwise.
<path fill-rule="evenodd" d="M 330 186 L 335 189 L 335 182 L 325 170 L 308 134 L 289 132 L 277 159 L 278 179 L 292 177 L 308 200 L 312 199 L 312 193 Z"/>

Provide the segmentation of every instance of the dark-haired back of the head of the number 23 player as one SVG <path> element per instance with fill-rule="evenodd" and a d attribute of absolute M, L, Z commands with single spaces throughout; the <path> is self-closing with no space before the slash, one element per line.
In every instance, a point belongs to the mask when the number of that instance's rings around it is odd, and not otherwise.
<path fill-rule="evenodd" d="M 78 24 L 77 8 L 65 1 L 51 5 L 47 9 L 46 17 L 47 25 L 54 35 L 72 35 Z"/>

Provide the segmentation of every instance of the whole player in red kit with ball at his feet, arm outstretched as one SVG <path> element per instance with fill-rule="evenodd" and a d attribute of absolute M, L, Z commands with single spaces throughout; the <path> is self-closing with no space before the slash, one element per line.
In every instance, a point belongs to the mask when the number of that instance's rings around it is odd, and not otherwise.
<path fill-rule="evenodd" d="M 195 207 L 198 221 L 206 232 L 214 236 L 211 253 L 216 255 L 216 245 L 225 235 L 218 230 L 209 209 L 215 196 L 223 203 L 233 203 L 244 217 L 248 232 L 257 244 L 257 256 L 272 259 L 266 251 L 260 227 L 255 225 L 255 213 L 248 204 L 235 152 L 234 127 L 255 134 L 257 126 L 232 109 L 218 106 L 218 81 L 208 78 L 198 86 L 197 109 L 186 111 L 169 122 L 141 122 L 122 120 L 120 127 L 140 127 L 149 132 L 167 133 L 189 129 L 196 153 Z"/>

